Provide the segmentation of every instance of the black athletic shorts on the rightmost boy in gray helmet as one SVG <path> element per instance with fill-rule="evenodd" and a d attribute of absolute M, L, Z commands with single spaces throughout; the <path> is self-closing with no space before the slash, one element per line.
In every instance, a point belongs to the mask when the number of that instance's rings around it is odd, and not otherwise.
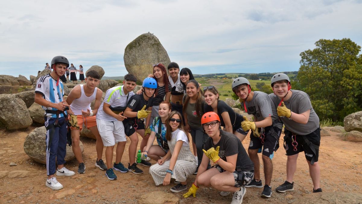
<path fill-rule="evenodd" d="M 307 145 L 307 143 L 303 139 L 302 135 L 296 135 L 296 142 L 298 142 L 298 145 L 296 146 L 297 151 L 294 151 L 294 148 L 292 146 L 292 140 L 290 138 L 292 135 L 292 132 L 287 130 L 287 128 L 284 128 L 284 133 L 286 135 L 285 151 L 286 151 L 287 156 L 295 155 L 295 154 L 298 154 L 299 152 L 304 151 L 304 155 L 306 156 L 306 159 L 308 161 L 311 161 L 313 156 L 315 156 L 314 162 L 318 162 L 319 145 L 320 145 L 320 128 L 319 127 L 312 133 L 305 135 L 305 137 L 313 144 L 315 153 L 312 151 L 311 147 L 309 145 Z"/>

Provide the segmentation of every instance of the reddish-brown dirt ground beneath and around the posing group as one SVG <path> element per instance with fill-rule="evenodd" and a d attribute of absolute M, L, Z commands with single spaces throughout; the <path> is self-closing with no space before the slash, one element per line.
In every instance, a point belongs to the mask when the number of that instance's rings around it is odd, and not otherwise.
<path fill-rule="evenodd" d="M 117 180 L 108 180 L 105 171 L 94 166 L 96 160 L 95 140 L 81 138 L 84 145 L 83 158 L 85 174 L 76 174 L 71 177 L 58 177 L 64 188 L 54 191 L 45 186 L 45 165 L 29 158 L 23 150 L 26 135 L 35 127 L 31 126 L 23 131 L 0 131 L 0 203 L 138 203 L 139 196 L 152 191 L 169 192 L 174 184 L 169 186 L 155 186 L 148 167 L 140 166 L 144 174 L 135 175 L 131 172 L 122 174 L 116 171 Z M 321 188 L 323 192 L 361 192 L 362 185 L 362 143 L 346 142 L 338 138 L 338 133 L 330 132 L 331 136 L 321 138 L 319 163 L 321 167 Z M 282 138 L 282 137 L 281 137 Z M 140 138 L 141 139 L 141 138 Z M 249 137 L 243 141 L 248 147 Z M 282 140 L 281 140 L 282 141 Z M 127 164 L 127 141 L 122 163 Z M 104 155 L 104 154 L 103 154 Z M 259 155 L 261 158 L 261 155 Z M 105 160 L 105 157 L 103 158 Z M 113 158 L 115 159 L 115 157 Z M 298 158 L 298 167 L 294 176 L 294 191 L 277 193 L 275 188 L 286 179 L 286 155 L 281 146 L 273 158 L 274 172 L 272 178 L 273 194 L 269 199 L 260 197 L 262 188 L 247 188 L 243 203 L 293 203 L 312 191 L 312 181 L 309 176 L 308 165 L 303 154 Z M 262 161 L 262 160 L 261 160 Z M 10 162 L 17 166 L 10 167 Z M 155 161 L 151 161 L 152 164 Z M 125 165 L 126 166 L 126 165 Z M 66 164 L 72 171 L 77 171 L 75 159 Z M 13 177 L 12 171 L 27 171 L 23 176 Z M 261 162 L 262 170 L 262 162 Z M 4 172 L 9 173 L 4 176 Z M 3 172 L 1 175 L 1 172 Z M 262 171 L 261 171 L 262 172 Z M 23 178 L 21 178 L 23 177 Z M 261 178 L 264 185 L 264 174 Z M 195 175 L 188 178 L 190 186 Z M 173 193 L 179 197 L 179 203 L 230 203 L 232 194 L 222 197 L 212 188 L 201 187 L 196 198 L 183 198 L 182 193 Z"/>

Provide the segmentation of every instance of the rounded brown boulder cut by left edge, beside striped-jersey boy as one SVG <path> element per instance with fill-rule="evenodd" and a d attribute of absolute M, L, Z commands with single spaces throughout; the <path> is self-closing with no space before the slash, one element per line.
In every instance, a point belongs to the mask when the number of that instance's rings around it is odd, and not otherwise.
<path fill-rule="evenodd" d="M 16 98 L 14 94 L 0 95 L 0 126 L 17 130 L 29 127 L 32 123 L 23 100 Z"/>

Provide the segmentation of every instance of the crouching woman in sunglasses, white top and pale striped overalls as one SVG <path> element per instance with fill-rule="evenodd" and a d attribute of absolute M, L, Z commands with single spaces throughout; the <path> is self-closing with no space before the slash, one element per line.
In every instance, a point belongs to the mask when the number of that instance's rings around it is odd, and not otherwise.
<path fill-rule="evenodd" d="M 182 124 L 181 114 L 172 111 L 166 121 L 166 139 L 170 150 L 150 167 L 150 174 L 156 185 L 168 185 L 171 178 L 180 183 L 170 189 L 181 192 L 187 189 L 186 179 L 196 170 L 196 160 L 190 151 L 189 138 Z"/>

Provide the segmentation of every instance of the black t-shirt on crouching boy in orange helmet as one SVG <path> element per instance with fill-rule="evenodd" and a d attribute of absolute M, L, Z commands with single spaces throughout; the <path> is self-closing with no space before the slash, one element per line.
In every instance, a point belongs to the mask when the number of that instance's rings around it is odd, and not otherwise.
<path fill-rule="evenodd" d="M 237 154 L 236 159 L 236 169 L 241 169 L 242 171 L 254 171 L 254 164 L 249 158 L 245 148 L 241 144 L 240 140 L 230 132 L 221 131 L 221 138 L 217 144 L 212 143 L 212 138 L 207 138 L 204 149 L 207 151 L 211 147 L 220 146 L 219 156 L 222 160 L 227 162 L 226 157 Z"/>

